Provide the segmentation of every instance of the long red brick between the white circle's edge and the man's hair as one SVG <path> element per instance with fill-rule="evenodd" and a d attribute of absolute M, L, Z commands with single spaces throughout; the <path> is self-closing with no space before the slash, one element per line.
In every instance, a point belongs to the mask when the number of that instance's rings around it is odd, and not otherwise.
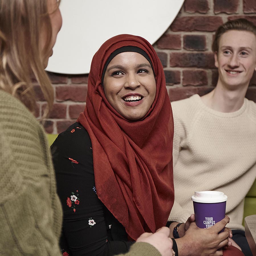
<path fill-rule="evenodd" d="M 215 31 L 223 20 L 218 16 L 177 17 L 171 24 L 172 31 Z"/>

